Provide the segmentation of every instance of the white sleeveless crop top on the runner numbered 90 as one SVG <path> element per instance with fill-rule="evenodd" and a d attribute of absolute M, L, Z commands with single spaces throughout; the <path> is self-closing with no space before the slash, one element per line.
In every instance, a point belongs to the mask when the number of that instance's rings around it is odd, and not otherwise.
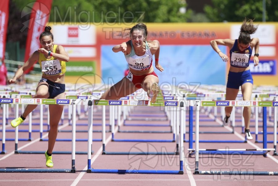
<path fill-rule="evenodd" d="M 128 62 L 129 68 L 133 70 L 147 70 L 150 69 L 153 62 L 153 55 L 150 52 L 149 45 L 146 41 L 146 52 L 143 56 L 137 56 L 133 49 L 133 44 L 131 43 L 131 52 L 124 55 L 126 61 Z"/>

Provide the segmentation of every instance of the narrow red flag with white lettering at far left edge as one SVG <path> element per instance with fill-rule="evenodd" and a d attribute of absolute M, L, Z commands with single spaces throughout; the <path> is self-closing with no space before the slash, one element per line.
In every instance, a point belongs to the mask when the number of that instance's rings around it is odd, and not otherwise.
<path fill-rule="evenodd" d="M 4 61 L 6 50 L 6 33 L 9 18 L 9 0 L 0 1 L 0 58 Z"/>

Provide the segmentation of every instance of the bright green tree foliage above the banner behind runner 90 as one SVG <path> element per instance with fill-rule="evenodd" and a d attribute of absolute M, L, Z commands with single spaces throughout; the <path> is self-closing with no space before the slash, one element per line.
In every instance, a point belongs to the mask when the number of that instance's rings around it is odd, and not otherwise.
<path fill-rule="evenodd" d="M 53 1 L 51 22 L 135 23 L 187 22 L 185 0 L 66 0 Z"/>

